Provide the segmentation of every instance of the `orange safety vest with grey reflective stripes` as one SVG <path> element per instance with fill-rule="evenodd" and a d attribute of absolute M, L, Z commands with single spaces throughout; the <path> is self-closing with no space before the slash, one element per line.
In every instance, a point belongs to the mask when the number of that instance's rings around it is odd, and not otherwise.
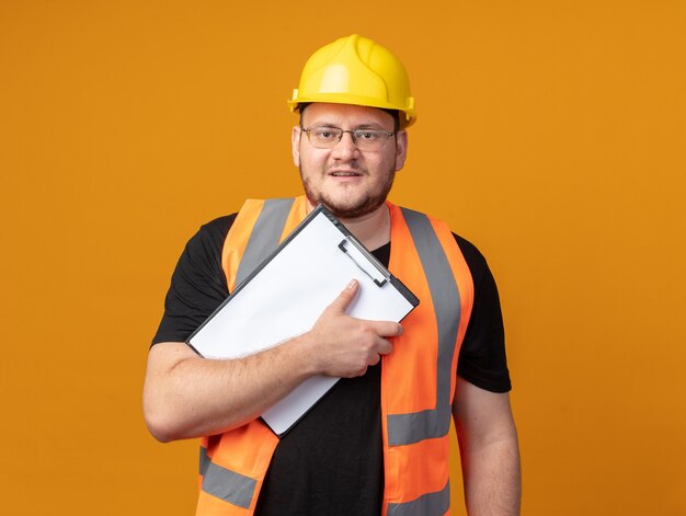
<path fill-rule="evenodd" d="M 449 442 L 457 358 L 473 301 L 469 267 L 450 229 L 387 203 L 389 271 L 420 299 L 381 357 L 386 516 L 449 514 Z M 229 291 L 306 217 L 305 197 L 248 200 L 224 245 Z M 201 446 L 197 515 L 252 515 L 278 444 L 256 418 Z"/>

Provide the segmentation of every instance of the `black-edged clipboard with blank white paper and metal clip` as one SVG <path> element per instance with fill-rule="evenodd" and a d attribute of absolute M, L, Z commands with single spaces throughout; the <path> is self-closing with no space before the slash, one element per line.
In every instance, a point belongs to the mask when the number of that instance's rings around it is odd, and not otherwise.
<path fill-rule="evenodd" d="M 205 358 L 241 358 L 308 332 L 351 279 L 351 317 L 400 322 L 419 299 L 323 206 L 315 208 L 188 337 Z M 261 417 L 285 434 L 339 378 L 315 376 Z"/>

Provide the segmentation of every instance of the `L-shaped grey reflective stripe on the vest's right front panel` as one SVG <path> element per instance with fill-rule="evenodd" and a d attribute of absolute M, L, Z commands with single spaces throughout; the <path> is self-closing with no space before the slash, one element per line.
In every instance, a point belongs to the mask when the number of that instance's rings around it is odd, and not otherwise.
<path fill-rule="evenodd" d="M 424 214 L 408 208 L 400 209 L 414 240 L 434 303 L 438 326 L 438 365 L 436 408 L 410 414 L 389 414 L 389 446 L 410 445 L 448 434 L 453 413 L 451 364 L 460 321 L 459 290 L 434 228 Z"/>

